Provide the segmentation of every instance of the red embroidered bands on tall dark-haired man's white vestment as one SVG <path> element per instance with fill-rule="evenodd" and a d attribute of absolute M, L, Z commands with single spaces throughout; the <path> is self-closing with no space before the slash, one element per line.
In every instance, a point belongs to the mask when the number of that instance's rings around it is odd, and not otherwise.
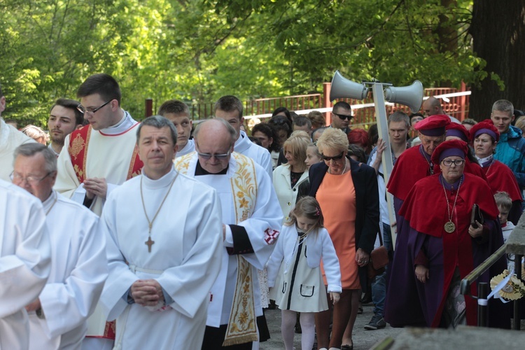
<path fill-rule="evenodd" d="M 131 127 L 130 130 L 134 129 L 134 127 L 137 125 L 139 125 L 139 123 Z M 91 129 L 91 125 L 81 127 L 80 129 L 72 132 L 71 137 L 69 138 L 68 151 L 71 157 L 73 170 L 75 171 L 76 178 L 78 179 L 79 183 L 83 183 L 85 180 L 85 164 L 87 161 L 87 147 L 90 145 Z M 127 132 L 130 130 L 127 130 Z M 139 149 L 137 148 L 137 145 L 135 145 L 130 161 L 130 168 L 127 171 L 126 180 L 140 175 L 143 166 L 144 163 L 139 158 Z"/>

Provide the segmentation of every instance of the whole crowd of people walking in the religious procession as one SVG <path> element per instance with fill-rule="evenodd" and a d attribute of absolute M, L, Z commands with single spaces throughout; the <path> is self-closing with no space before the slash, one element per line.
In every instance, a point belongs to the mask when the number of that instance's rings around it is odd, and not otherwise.
<path fill-rule="evenodd" d="M 276 305 L 286 350 L 297 328 L 302 349 L 351 350 L 367 298 L 367 330 L 475 325 L 459 283 L 522 213 L 506 100 L 477 123 L 430 97 L 381 139 L 346 102 L 246 132 L 232 95 L 199 123 L 176 99 L 134 120 L 104 73 L 76 97 L 51 106 L 48 136 L 6 123 L 0 89 L 0 349 L 259 349 Z M 371 276 L 379 244 L 390 263 Z M 489 325 L 509 328 L 500 305 Z"/>

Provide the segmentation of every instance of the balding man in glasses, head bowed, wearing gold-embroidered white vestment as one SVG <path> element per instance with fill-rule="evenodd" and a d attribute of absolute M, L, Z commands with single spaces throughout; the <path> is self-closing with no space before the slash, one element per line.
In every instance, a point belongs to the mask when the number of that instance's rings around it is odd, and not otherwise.
<path fill-rule="evenodd" d="M 179 172 L 217 190 L 223 210 L 222 266 L 211 288 L 203 350 L 232 344 L 251 350 L 258 342 L 263 314 L 257 269 L 272 254 L 283 219 L 267 172 L 234 152 L 235 140 L 226 120 L 205 120 L 195 129 L 196 152 L 175 160 Z"/>

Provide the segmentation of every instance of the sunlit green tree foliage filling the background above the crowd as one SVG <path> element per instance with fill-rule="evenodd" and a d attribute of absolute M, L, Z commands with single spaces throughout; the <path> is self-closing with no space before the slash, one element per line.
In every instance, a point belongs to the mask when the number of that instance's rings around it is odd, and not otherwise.
<path fill-rule="evenodd" d="M 144 117 L 166 99 L 213 102 L 320 92 L 353 80 L 476 83 L 484 61 L 463 0 L 0 0 L 4 117 L 45 127 L 92 73 L 120 82 Z M 206 117 L 206 116 L 201 116 Z"/>

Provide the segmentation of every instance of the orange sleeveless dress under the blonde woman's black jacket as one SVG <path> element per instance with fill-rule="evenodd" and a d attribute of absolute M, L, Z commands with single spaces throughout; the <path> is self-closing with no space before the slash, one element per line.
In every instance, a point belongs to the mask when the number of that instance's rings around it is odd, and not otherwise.
<path fill-rule="evenodd" d="M 353 187 L 351 172 L 342 175 L 326 172 L 316 199 L 321 205 L 325 228 L 339 258 L 342 288 L 360 289 L 356 262 L 356 189 Z M 327 285 L 324 269 L 323 279 Z"/>

